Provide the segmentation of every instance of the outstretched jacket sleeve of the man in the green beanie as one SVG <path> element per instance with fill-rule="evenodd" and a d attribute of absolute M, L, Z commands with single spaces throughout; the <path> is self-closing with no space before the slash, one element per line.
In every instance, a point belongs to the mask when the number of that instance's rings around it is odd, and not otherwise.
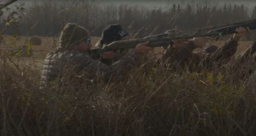
<path fill-rule="evenodd" d="M 104 77 L 108 80 L 113 74 L 123 75 L 126 71 L 131 70 L 133 66 L 138 65 L 139 53 L 134 50 L 109 66 L 92 59 L 88 54 L 84 53 L 78 53 L 71 61 L 75 62 L 73 64 L 76 64 L 79 70 L 88 73 L 89 77 Z"/>

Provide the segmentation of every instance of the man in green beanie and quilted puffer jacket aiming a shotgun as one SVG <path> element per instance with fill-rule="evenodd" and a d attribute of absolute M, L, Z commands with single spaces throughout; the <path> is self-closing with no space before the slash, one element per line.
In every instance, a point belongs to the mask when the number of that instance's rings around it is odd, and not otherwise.
<path fill-rule="evenodd" d="M 89 78 L 103 77 L 109 80 L 113 74 L 123 75 L 133 66 L 139 64 L 139 56 L 153 48 L 147 46 L 148 42 L 138 44 L 135 49 L 121 58 L 118 62 L 106 66 L 89 55 L 91 38 L 89 32 L 80 25 L 68 23 L 62 30 L 59 47 L 48 53 L 41 71 L 41 85 L 46 87 L 55 79 L 60 79 L 69 68 L 75 72 L 86 73 Z"/>

